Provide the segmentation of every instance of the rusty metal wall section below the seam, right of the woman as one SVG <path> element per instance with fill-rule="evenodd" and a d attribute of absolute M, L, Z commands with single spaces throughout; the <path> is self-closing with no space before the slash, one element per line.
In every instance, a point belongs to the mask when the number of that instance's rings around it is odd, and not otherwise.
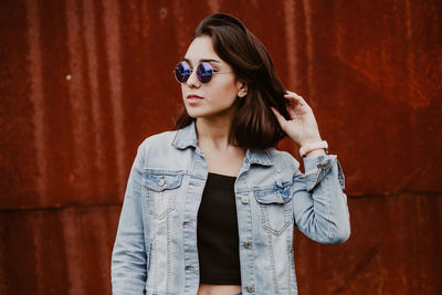
<path fill-rule="evenodd" d="M 442 198 L 368 197 L 349 209 L 345 244 L 295 238 L 301 294 L 441 294 Z"/>

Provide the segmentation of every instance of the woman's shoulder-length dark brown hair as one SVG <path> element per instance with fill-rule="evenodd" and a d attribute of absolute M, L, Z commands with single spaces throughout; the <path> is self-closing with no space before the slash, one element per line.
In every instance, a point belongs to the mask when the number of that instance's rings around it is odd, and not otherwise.
<path fill-rule="evenodd" d="M 235 76 L 248 85 L 248 94 L 236 98 L 236 113 L 230 129 L 230 143 L 246 149 L 274 147 L 284 136 L 271 106 L 284 117 L 284 87 L 277 78 L 273 61 L 261 41 L 232 15 L 215 13 L 200 22 L 196 38 L 212 39 L 217 54 L 233 70 Z M 176 128 L 193 120 L 183 108 Z"/>

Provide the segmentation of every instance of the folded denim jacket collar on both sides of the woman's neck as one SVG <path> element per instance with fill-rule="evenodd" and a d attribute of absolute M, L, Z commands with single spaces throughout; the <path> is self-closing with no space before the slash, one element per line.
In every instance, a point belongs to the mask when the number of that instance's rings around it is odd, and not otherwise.
<path fill-rule="evenodd" d="M 194 127 L 194 122 L 192 122 L 187 127 L 179 129 L 175 139 L 172 141 L 172 146 L 178 149 L 186 149 L 188 147 L 198 147 L 198 138 L 197 130 Z M 269 150 L 250 150 L 245 152 L 245 162 L 249 164 L 257 164 L 262 166 L 272 166 L 273 161 L 270 156 Z"/>

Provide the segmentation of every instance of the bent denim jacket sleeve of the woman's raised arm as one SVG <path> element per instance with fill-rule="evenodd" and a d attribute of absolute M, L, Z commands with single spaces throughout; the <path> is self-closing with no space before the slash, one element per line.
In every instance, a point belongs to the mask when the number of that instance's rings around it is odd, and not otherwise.
<path fill-rule="evenodd" d="M 314 241 L 339 244 L 350 235 L 344 173 L 337 157 L 304 158 L 305 173 L 294 176 L 293 209 L 296 226 Z"/>

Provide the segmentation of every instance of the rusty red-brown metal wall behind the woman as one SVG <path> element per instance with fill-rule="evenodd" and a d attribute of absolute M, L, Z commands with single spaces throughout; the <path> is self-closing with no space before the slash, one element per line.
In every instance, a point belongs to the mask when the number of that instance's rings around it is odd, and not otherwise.
<path fill-rule="evenodd" d="M 110 293 L 136 147 L 171 128 L 171 69 L 215 11 L 263 41 L 346 172 L 352 235 L 296 234 L 301 294 L 442 294 L 438 0 L 1 1 L 0 294 Z"/>

